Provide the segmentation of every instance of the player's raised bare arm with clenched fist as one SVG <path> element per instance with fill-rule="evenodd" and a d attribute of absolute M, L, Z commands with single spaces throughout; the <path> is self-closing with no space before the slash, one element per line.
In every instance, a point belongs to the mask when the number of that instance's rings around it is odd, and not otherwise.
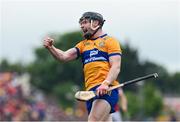
<path fill-rule="evenodd" d="M 54 40 L 51 38 L 44 39 L 44 47 L 59 61 L 71 61 L 77 58 L 76 48 L 71 48 L 67 51 L 62 51 L 53 45 Z"/>

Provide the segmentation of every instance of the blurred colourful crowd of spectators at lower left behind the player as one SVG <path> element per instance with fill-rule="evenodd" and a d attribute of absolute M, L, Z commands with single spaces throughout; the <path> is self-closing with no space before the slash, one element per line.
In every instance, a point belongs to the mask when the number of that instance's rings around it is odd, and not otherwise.
<path fill-rule="evenodd" d="M 81 111 L 75 113 L 82 115 Z M 27 75 L 0 73 L 0 121 L 82 120 L 73 114 L 73 110 L 63 110 L 54 98 L 31 88 Z"/>

